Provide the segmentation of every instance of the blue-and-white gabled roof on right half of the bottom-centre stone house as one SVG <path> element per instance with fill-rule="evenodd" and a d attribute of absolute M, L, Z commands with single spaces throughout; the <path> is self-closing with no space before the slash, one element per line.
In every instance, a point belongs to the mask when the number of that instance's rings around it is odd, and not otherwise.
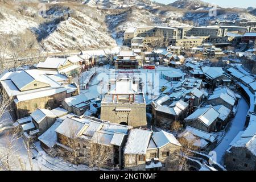
<path fill-rule="evenodd" d="M 179 141 L 174 137 L 174 135 L 167 133 L 166 131 L 159 131 L 152 134 L 152 139 L 154 140 L 158 148 L 166 146 L 168 143 L 175 144 L 176 146 L 181 146 Z"/>

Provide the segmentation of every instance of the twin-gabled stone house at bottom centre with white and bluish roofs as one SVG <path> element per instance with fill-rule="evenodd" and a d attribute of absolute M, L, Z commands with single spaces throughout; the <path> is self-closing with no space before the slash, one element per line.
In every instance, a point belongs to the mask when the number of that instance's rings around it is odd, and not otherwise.
<path fill-rule="evenodd" d="M 168 170 L 176 166 L 173 156 L 181 144 L 165 131 L 130 130 L 124 152 L 124 168 L 129 170 Z"/>

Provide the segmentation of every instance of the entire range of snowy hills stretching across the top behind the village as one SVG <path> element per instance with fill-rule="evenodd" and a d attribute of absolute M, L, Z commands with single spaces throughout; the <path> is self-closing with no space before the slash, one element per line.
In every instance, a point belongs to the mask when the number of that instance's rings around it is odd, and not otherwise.
<path fill-rule="evenodd" d="M 205 26 L 215 20 L 256 20 L 255 10 L 217 9 L 209 16 L 209 3 L 180 0 L 161 5 L 150 0 L 85 0 L 83 3 L 47 4 L 38 14 L 38 3 L 0 2 L 0 34 L 34 32 L 41 51 L 59 52 L 120 45 L 127 27 Z"/>

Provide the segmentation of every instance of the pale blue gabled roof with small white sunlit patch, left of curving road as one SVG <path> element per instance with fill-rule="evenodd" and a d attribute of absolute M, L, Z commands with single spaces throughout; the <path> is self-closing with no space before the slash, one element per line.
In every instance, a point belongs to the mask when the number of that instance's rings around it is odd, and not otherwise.
<path fill-rule="evenodd" d="M 218 118 L 219 115 L 220 113 L 218 113 L 218 111 L 216 111 L 213 107 L 202 107 L 185 118 L 185 120 L 191 121 L 194 119 L 199 119 L 204 123 L 204 125 L 210 126 Z"/>

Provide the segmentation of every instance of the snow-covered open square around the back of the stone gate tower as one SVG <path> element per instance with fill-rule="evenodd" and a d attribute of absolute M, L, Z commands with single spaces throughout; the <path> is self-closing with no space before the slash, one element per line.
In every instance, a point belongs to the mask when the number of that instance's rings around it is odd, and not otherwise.
<path fill-rule="evenodd" d="M 80 90 L 81 94 L 85 94 L 88 98 L 104 97 L 104 94 L 108 92 L 108 81 L 109 78 L 115 78 L 119 72 L 129 72 L 129 76 L 137 76 L 142 78 L 142 82 L 145 85 L 142 92 L 144 93 L 144 97 L 146 103 L 154 100 L 159 96 L 159 90 L 163 85 L 168 83 L 162 75 L 165 72 L 177 71 L 181 72 L 179 69 L 158 66 L 155 70 L 150 69 L 136 69 L 136 70 L 114 70 L 109 65 L 105 65 L 104 67 L 94 67 L 91 69 L 92 71 L 96 71 L 97 75 L 90 81 L 88 90 Z M 86 72 L 83 73 L 86 75 Z M 124 74 L 126 75 L 126 74 Z M 148 93 L 148 94 L 147 94 Z"/>

